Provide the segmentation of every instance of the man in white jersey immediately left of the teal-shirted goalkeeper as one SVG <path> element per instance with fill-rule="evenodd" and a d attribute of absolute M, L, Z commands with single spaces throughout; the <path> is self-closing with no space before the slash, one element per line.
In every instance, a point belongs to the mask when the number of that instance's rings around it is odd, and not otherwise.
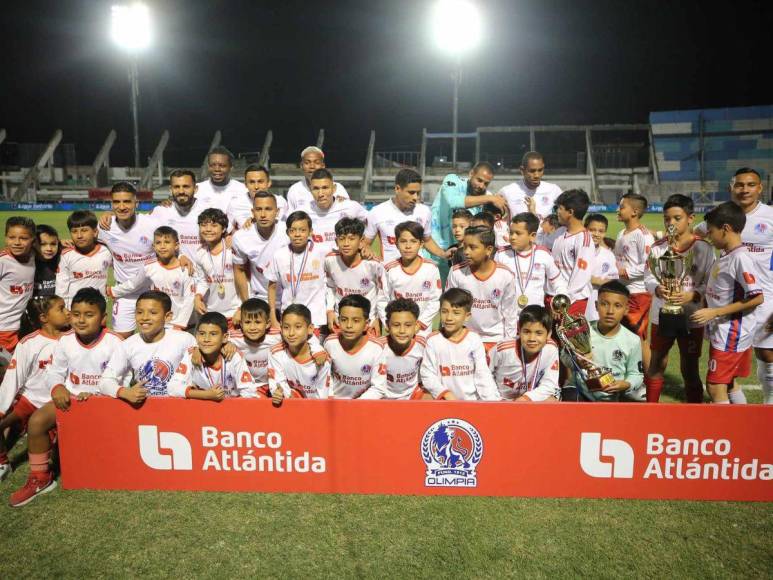
<path fill-rule="evenodd" d="M 364 247 L 378 238 L 381 259 L 386 264 L 400 257 L 395 226 L 416 222 L 424 228 L 424 248 L 433 256 L 446 257 L 446 251 L 432 239 L 432 210 L 421 203 L 421 175 L 413 169 L 401 169 L 395 176 L 395 194 L 368 212 Z"/>

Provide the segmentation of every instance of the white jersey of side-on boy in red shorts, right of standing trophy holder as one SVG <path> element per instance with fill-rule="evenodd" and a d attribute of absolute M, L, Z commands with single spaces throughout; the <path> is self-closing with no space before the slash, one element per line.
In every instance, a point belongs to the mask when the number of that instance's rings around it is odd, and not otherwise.
<path fill-rule="evenodd" d="M 718 308 L 762 294 L 757 276 L 757 267 L 746 246 L 723 252 L 709 275 L 706 303 L 709 308 Z M 756 311 L 755 308 L 709 322 L 711 346 L 726 352 L 743 352 L 751 347 L 757 324 Z"/>

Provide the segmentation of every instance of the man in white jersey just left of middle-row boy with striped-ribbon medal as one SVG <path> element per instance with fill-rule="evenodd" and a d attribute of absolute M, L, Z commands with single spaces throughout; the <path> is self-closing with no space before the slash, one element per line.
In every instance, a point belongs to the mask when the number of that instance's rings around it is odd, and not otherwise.
<path fill-rule="evenodd" d="M 267 191 L 256 192 L 252 223 L 233 235 L 234 281 L 242 301 L 248 298 L 268 300 L 266 271 L 274 254 L 290 242 L 284 224 L 277 224 L 277 199 L 280 198 Z"/>

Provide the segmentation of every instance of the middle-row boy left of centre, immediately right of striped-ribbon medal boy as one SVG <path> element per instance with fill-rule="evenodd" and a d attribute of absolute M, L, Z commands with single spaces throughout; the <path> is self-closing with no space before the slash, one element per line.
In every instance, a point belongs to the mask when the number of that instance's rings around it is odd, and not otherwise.
<path fill-rule="evenodd" d="M 384 267 L 379 260 L 362 256 L 360 246 L 364 233 L 365 224 L 355 218 L 341 218 L 335 226 L 338 249 L 325 257 L 327 325 L 337 331 L 341 299 L 350 294 L 359 294 L 371 304 L 368 320 L 372 332 L 379 336 L 381 327 L 376 306 L 381 299 Z"/>

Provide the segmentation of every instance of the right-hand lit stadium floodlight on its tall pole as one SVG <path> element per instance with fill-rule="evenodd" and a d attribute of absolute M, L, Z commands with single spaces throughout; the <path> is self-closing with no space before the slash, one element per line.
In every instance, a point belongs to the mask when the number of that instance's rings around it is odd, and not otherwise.
<path fill-rule="evenodd" d="M 456 167 L 459 132 L 459 86 L 462 84 L 462 56 L 478 46 L 481 17 L 478 7 L 468 0 L 439 0 L 432 12 L 435 45 L 454 60 L 453 137 L 451 162 Z"/>

